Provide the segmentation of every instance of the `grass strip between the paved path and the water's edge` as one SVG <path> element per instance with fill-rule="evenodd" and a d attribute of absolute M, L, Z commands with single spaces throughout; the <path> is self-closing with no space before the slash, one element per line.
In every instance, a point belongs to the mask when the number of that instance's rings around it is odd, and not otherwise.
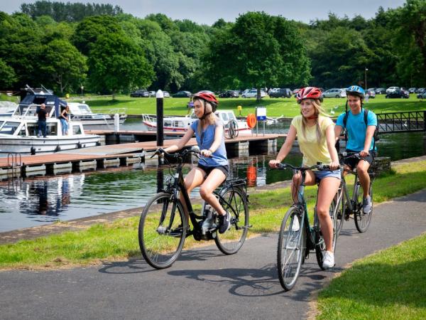
<path fill-rule="evenodd" d="M 380 203 L 426 187 L 426 161 L 395 167 L 395 173 L 377 178 L 374 201 Z M 316 188 L 306 190 L 310 208 Z M 249 234 L 278 230 L 285 210 L 290 206 L 289 188 L 253 193 L 250 197 Z M 65 232 L 35 240 L 0 246 L 0 270 L 10 268 L 43 269 L 72 265 L 92 265 L 101 260 L 126 260 L 141 257 L 137 240 L 138 217 L 114 223 L 92 225 L 78 232 Z M 207 242 L 209 243 L 209 242 Z M 198 245 L 188 238 L 185 247 Z"/>

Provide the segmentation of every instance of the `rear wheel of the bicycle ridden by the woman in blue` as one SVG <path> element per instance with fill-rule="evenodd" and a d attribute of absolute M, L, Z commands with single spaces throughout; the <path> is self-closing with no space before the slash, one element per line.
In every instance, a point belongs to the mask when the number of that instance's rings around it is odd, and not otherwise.
<path fill-rule="evenodd" d="M 225 255 L 234 255 L 244 244 L 249 228 L 246 194 L 240 188 L 225 188 L 220 193 L 219 202 L 231 215 L 231 228 L 225 233 L 217 233 L 214 242 Z"/>

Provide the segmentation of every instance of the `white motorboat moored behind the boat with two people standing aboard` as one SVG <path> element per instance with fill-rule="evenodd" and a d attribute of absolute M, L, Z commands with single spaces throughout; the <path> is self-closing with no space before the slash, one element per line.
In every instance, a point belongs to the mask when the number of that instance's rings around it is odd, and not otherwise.
<path fill-rule="evenodd" d="M 119 114 L 120 124 L 124 123 L 127 115 L 124 109 L 111 110 L 110 114 L 93 113 L 90 107 L 84 102 L 68 102 L 70 106 L 71 119 L 82 122 L 84 129 L 110 129 L 114 127 L 114 116 Z"/>

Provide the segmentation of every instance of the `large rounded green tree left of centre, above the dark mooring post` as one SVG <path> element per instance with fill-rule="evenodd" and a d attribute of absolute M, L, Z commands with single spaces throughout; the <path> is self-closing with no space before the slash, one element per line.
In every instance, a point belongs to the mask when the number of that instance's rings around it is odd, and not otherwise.
<path fill-rule="evenodd" d="M 154 78 L 152 65 L 134 41 L 121 33 L 99 36 L 88 59 L 89 85 L 94 91 L 111 92 L 148 87 Z"/>

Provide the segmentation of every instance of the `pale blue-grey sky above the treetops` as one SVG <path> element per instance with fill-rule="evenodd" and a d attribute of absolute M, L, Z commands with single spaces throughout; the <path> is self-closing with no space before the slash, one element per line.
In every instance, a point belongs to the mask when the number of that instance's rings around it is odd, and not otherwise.
<path fill-rule="evenodd" d="M 35 0 L 0 0 L 0 11 L 12 14 L 19 11 L 21 4 Z M 60 2 L 82 2 L 121 6 L 126 14 L 144 18 L 148 14 L 165 14 L 175 19 L 189 19 L 211 26 L 219 18 L 234 22 L 239 14 L 247 11 L 264 11 L 273 16 L 309 23 L 315 19 L 327 19 L 329 12 L 339 17 L 353 18 L 357 14 L 364 18 L 376 15 L 379 6 L 384 9 L 403 6 L 405 0 L 62 0 Z"/>

